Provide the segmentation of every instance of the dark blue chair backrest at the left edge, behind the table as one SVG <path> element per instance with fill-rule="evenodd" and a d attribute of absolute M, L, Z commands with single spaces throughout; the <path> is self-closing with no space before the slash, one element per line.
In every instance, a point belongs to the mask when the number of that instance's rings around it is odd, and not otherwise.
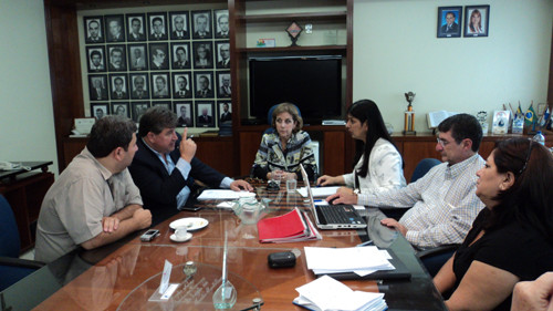
<path fill-rule="evenodd" d="M 19 257 L 21 245 L 18 224 L 8 200 L 0 195 L 0 256 Z"/>

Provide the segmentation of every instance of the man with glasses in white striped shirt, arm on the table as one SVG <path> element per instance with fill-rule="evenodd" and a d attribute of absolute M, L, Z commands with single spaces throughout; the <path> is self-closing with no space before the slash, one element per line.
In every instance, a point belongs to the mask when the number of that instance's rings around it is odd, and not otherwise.
<path fill-rule="evenodd" d="M 441 122 L 438 131 L 436 151 L 444 163 L 417 182 L 358 199 L 336 194 L 327 200 L 337 197 L 334 204 L 411 207 L 399 221 L 386 218 L 382 224 L 396 228 L 418 249 L 462 242 L 484 207 L 476 196 L 476 173 L 484 165 L 478 155 L 482 128 L 474 116 L 458 114 Z"/>

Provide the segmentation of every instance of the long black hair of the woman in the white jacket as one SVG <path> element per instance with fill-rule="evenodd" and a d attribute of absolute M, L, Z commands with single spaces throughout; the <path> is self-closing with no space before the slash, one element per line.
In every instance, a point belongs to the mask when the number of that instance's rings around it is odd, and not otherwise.
<path fill-rule="evenodd" d="M 363 164 L 357 172 L 358 176 L 365 177 L 367 176 L 368 172 L 368 157 L 376 141 L 378 141 L 378 138 L 384 138 L 392 145 L 394 145 L 394 147 L 396 147 L 396 144 L 389 136 L 388 131 L 386 129 L 386 125 L 384 125 L 384 120 L 382 118 L 380 111 L 378 110 L 378 106 L 375 104 L 375 102 L 371 100 L 359 100 L 349 106 L 349 108 L 347 110 L 347 115 L 359 120 L 362 125 L 366 122 L 368 126 L 367 136 L 365 138 L 366 143 L 363 143 L 363 141 L 355 142 L 355 157 L 353 162 L 353 165 L 355 167 L 357 162 L 359 162 L 361 156 L 365 155 L 363 157 Z"/>

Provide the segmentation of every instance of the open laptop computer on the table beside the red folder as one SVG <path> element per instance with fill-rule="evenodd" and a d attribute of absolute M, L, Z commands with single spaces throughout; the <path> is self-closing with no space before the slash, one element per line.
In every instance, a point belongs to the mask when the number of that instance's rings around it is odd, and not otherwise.
<path fill-rule="evenodd" d="M 320 229 L 363 229 L 367 224 L 363 217 L 357 214 L 351 205 L 315 205 L 313 193 L 311 191 L 307 173 L 303 165 L 300 164 L 303 183 L 307 189 L 307 198 L 310 200 L 310 209 L 313 212 L 315 225 Z"/>

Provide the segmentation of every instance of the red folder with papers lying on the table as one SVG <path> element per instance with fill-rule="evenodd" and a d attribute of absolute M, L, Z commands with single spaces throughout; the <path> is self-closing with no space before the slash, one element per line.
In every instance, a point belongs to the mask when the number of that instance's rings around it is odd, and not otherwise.
<path fill-rule="evenodd" d="M 296 242 L 322 239 L 306 214 L 298 208 L 282 216 L 261 219 L 258 222 L 260 242 Z"/>

